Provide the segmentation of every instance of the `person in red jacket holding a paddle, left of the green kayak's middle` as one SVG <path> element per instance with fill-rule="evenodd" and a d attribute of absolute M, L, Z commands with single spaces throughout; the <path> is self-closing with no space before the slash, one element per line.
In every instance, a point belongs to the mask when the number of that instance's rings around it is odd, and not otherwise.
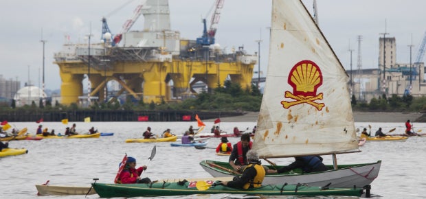
<path fill-rule="evenodd" d="M 150 183 L 149 178 L 140 178 L 140 175 L 146 170 L 146 165 L 136 169 L 136 159 L 128 157 L 124 169 L 120 173 L 119 182 L 122 184 L 133 184 L 133 183 Z"/>

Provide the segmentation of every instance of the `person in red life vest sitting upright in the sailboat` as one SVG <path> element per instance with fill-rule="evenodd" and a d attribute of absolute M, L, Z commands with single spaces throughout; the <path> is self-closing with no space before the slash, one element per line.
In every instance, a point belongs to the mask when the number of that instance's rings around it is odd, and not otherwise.
<path fill-rule="evenodd" d="M 246 154 L 251 149 L 253 143 L 250 141 L 250 134 L 244 133 L 241 135 L 240 141 L 234 144 L 231 155 L 229 156 L 229 165 L 236 172 L 243 172 L 243 165 L 247 165 Z"/>

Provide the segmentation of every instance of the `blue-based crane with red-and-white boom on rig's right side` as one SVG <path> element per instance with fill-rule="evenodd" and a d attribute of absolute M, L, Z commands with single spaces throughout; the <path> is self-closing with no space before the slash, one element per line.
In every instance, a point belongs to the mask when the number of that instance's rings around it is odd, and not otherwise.
<path fill-rule="evenodd" d="M 223 8 L 223 1 L 225 0 L 216 0 L 214 3 L 214 13 L 212 14 L 212 19 L 210 20 L 210 29 L 207 30 L 206 20 L 203 19 L 203 36 L 197 38 L 197 44 L 199 45 L 212 45 L 214 44 L 214 36 L 216 35 L 217 24 L 221 18 L 221 9 Z"/>

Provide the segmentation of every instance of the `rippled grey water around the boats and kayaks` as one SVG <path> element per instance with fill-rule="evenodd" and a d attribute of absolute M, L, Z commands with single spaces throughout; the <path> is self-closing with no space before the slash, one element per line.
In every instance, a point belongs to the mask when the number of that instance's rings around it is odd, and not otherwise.
<path fill-rule="evenodd" d="M 201 168 L 204 159 L 227 161 L 227 156 L 216 156 L 213 149 L 171 147 L 170 143 L 125 143 L 128 138 L 142 137 L 149 125 L 154 133 L 161 134 L 166 128 L 181 134 L 195 122 L 78 122 L 77 130 L 89 130 L 95 126 L 102 132 L 114 132 L 113 136 L 99 139 L 43 139 L 41 141 L 10 141 L 11 148 L 27 148 L 28 154 L 0 159 L 0 198 L 36 198 L 36 187 L 50 180 L 50 185 L 89 186 L 93 178 L 100 183 L 112 183 L 118 163 L 124 154 L 137 159 L 137 165 L 148 165 L 144 176 L 151 180 L 162 178 L 208 178 L 210 175 Z M 212 122 L 203 132 L 209 132 Z M 372 133 L 383 128 L 392 133 L 403 133 L 401 123 L 356 123 L 356 128 L 372 126 Z M 38 124 L 32 122 L 14 123 L 17 128 L 27 127 L 34 133 Z M 234 126 L 240 129 L 253 128 L 255 122 L 223 122 L 221 129 L 232 132 Z M 68 126 L 71 126 L 69 124 Z M 45 122 L 43 128 L 55 129 L 56 133 L 65 130 L 60 122 Z M 426 130 L 426 124 L 414 124 L 414 130 Z M 228 139 L 232 144 L 238 138 Z M 209 140 L 208 147 L 216 147 L 220 139 Z M 148 161 L 150 152 L 157 145 L 153 161 Z M 371 163 L 382 160 L 379 177 L 372 183 L 373 198 L 425 198 L 426 183 L 423 180 L 423 165 L 426 156 L 426 137 L 410 137 L 407 141 L 367 141 L 360 147 L 362 152 L 337 156 L 339 164 Z M 324 163 L 332 164 L 331 156 L 323 156 Z M 279 165 L 289 164 L 293 159 L 273 159 Z M 227 194 L 212 196 L 180 196 L 179 198 L 223 198 Z M 44 196 L 43 198 L 84 198 L 84 196 Z M 98 198 L 98 195 L 88 196 Z M 176 197 L 161 197 L 176 198 Z M 265 198 L 295 198 L 269 196 Z M 317 197 L 324 198 L 324 197 Z M 345 198 L 345 197 L 344 197 Z"/>

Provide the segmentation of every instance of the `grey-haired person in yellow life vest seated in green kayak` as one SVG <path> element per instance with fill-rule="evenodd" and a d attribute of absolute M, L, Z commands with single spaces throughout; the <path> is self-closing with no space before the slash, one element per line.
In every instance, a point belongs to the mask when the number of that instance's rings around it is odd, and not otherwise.
<path fill-rule="evenodd" d="M 266 171 L 259 161 L 258 152 L 249 150 L 246 156 L 249 165 L 245 167 L 243 174 L 241 176 L 235 176 L 232 181 L 221 182 L 222 185 L 238 189 L 250 189 L 262 186 Z"/>

